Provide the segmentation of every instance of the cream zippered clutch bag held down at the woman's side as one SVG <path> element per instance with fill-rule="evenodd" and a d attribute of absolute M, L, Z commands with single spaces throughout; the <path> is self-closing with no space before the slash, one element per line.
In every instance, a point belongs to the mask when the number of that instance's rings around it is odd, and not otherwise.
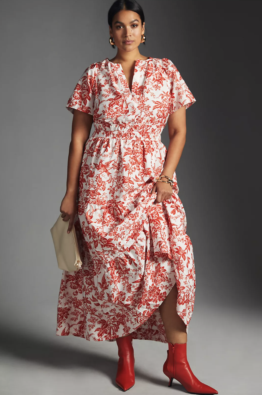
<path fill-rule="evenodd" d="M 70 233 L 67 233 L 69 221 L 63 221 L 62 213 L 50 229 L 55 246 L 55 254 L 59 269 L 78 271 L 82 267 L 76 230 L 74 224 Z"/>

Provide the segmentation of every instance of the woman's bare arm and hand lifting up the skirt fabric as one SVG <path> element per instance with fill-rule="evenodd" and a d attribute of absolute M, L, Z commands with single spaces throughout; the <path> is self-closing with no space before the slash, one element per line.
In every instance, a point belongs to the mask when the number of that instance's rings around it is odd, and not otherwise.
<path fill-rule="evenodd" d="M 182 155 L 184 145 L 186 143 L 186 106 L 180 107 L 177 111 L 169 115 L 167 120 L 169 133 L 169 146 L 167 157 L 161 175 L 167 175 L 171 179 L 175 173 L 178 162 Z M 165 180 L 165 179 L 163 179 Z M 157 191 L 156 203 L 172 196 L 173 189 L 170 184 L 165 182 L 156 182 L 152 188 L 152 192 Z"/>

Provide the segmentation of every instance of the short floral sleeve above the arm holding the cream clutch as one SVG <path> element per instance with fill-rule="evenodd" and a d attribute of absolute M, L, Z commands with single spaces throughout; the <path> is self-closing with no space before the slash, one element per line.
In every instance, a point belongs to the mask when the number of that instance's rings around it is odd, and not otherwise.
<path fill-rule="evenodd" d="M 85 69 L 76 84 L 70 98 L 68 99 L 66 108 L 73 113 L 73 109 L 83 111 L 87 114 L 94 114 L 95 102 L 95 66 Z"/>

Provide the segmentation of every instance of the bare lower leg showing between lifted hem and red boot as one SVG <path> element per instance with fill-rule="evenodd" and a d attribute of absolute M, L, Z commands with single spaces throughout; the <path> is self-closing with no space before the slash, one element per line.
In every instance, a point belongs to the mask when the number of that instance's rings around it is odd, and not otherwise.
<path fill-rule="evenodd" d="M 177 314 L 177 284 L 169 292 L 159 306 L 159 312 L 164 324 L 167 341 L 170 343 L 186 343 L 186 324 Z"/>

